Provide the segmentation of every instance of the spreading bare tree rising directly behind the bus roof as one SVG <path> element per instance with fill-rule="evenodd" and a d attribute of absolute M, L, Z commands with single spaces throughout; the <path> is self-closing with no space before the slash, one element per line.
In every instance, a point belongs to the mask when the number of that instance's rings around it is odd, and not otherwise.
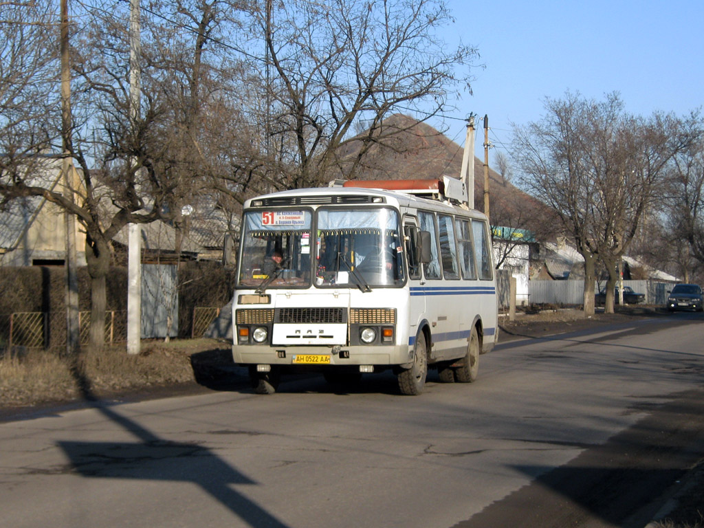
<path fill-rule="evenodd" d="M 387 130 L 384 117 L 415 109 L 429 118 L 448 108 L 454 87 L 469 86 L 476 51 L 446 51 L 437 37 L 451 22 L 444 1 L 252 5 L 246 48 L 262 99 L 271 103 L 263 118 L 265 142 L 279 173 L 264 170 L 272 163 L 256 170 L 272 189 L 353 177 L 370 146 L 402 132 Z M 355 137 L 360 120 L 367 132 Z M 363 144 L 356 163 L 339 165 L 339 148 L 351 141 Z"/>

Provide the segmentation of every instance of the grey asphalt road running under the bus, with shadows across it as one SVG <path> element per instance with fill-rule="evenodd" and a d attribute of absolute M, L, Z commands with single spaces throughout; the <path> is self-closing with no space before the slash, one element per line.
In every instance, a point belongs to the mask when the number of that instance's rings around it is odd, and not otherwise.
<path fill-rule="evenodd" d="M 0 424 L 2 527 L 637 527 L 704 456 L 704 319 L 507 342 L 474 384 L 322 378 Z"/>

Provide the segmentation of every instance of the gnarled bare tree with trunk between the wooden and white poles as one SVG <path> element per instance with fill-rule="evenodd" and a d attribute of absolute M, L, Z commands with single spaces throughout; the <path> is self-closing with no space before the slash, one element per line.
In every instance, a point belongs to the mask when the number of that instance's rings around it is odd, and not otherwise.
<path fill-rule="evenodd" d="M 231 63 L 221 58 L 215 61 L 219 68 L 202 60 L 206 43 L 211 42 L 218 20 L 213 14 L 215 4 L 222 3 L 195 1 L 186 6 L 174 1 L 151 4 L 161 11 L 149 11 L 151 18 L 144 26 L 147 33 L 144 38 L 146 53 L 142 57 L 144 97 L 136 119 L 132 118 L 129 95 L 129 35 L 125 23 L 129 18 L 120 2 L 114 6 L 105 6 L 102 2 L 95 6 L 82 4 L 84 11 L 77 20 L 83 27 L 80 32 L 73 32 L 79 36 L 72 39 L 72 65 L 76 75 L 70 130 L 61 130 L 55 88 L 42 92 L 39 87 L 39 94 L 49 94 L 44 95 L 44 99 L 48 99 L 46 106 L 50 108 L 45 112 L 50 119 L 45 121 L 29 113 L 36 103 L 43 101 L 42 98 L 30 99 L 31 90 L 27 89 L 27 97 L 18 99 L 20 110 L 25 112 L 23 122 L 27 123 L 27 133 L 15 143 L 24 149 L 25 155 L 14 155 L 19 148 L 7 150 L 13 159 L 24 159 L 25 170 L 18 170 L 18 163 L 13 165 L 13 170 L 4 170 L 0 192 L 5 201 L 22 196 L 42 196 L 75 215 L 82 225 L 86 232 L 85 254 L 92 278 L 93 346 L 103 343 L 105 277 L 111 263 L 111 240 L 129 222 L 163 218 L 175 222 L 178 227 L 182 220 L 181 206 L 210 190 L 207 178 L 203 177 L 208 175 L 209 166 L 203 163 L 203 159 L 209 157 L 208 139 L 227 132 L 227 129 L 208 130 L 209 116 L 223 120 L 217 106 L 223 98 L 209 95 L 225 92 L 223 84 L 215 84 L 213 79 L 219 80 L 218 75 L 231 68 Z M 177 17 L 182 20 L 175 23 Z M 41 19 L 37 17 L 37 20 Z M 161 23 L 156 24 L 155 20 Z M 163 23 L 164 20 L 169 22 Z M 44 27 L 45 31 L 52 27 L 46 25 L 46 20 L 42 21 L 44 25 L 37 27 Z M 21 40 L 13 43 L 12 49 L 18 51 L 17 55 L 25 66 L 42 64 L 32 56 L 25 57 L 20 44 Z M 56 54 L 52 58 L 56 64 Z M 39 84 L 37 77 L 42 80 L 44 70 L 27 70 L 34 77 L 29 80 L 25 80 L 27 75 L 13 78 L 6 85 L 15 92 L 22 92 L 25 85 L 32 88 L 32 82 Z M 56 76 L 58 66 L 54 79 Z M 18 127 L 10 126 L 12 120 L 17 119 L 10 113 L 7 115 L 10 117 L 6 118 L 6 131 L 18 130 Z M 39 122 L 44 129 L 39 127 Z M 73 189 L 73 201 L 66 199 L 61 189 L 37 181 L 35 172 L 27 166 L 30 158 L 26 154 L 52 145 L 56 152 L 62 133 L 70 156 L 80 167 L 77 173 L 80 182 Z M 5 137 L 10 138 L 6 141 L 9 145 L 11 134 L 8 132 Z M 37 138 L 43 143 L 37 142 Z M 49 151 L 47 156 L 61 154 L 52 155 Z"/>

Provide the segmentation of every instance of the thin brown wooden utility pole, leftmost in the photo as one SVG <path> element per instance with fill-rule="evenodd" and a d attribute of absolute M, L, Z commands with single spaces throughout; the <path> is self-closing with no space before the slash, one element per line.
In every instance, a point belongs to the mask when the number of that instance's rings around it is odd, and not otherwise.
<path fill-rule="evenodd" d="M 73 204 L 75 169 L 70 158 L 71 150 L 71 65 L 68 47 L 68 0 L 61 0 L 61 140 L 63 142 L 63 196 Z M 76 219 L 73 211 L 63 212 L 66 243 L 66 351 L 77 353 L 80 347 L 80 323 L 78 320 L 78 276 L 76 259 Z"/>

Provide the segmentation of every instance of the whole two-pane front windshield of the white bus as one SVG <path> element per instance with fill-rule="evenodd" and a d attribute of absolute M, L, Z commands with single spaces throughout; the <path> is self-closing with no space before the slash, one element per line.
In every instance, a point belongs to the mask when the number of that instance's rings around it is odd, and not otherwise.
<path fill-rule="evenodd" d="M 320 208 L 315 214 L 316 250 L 310 210 L 246 211 L 239 286 L 310 287 L 311 269 L 316 287 L 366 291 L 406 282 L 396 210 Z"/>

